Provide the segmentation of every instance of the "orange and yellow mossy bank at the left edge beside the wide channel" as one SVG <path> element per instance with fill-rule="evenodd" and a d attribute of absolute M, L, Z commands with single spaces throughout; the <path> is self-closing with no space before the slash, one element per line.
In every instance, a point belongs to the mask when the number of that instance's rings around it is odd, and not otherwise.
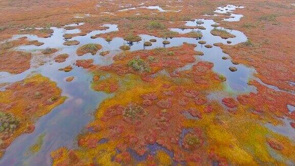
<path fill-rule="evenodd" d="M 56 83 L 40 74 L 15 82 L 0 92 L 1 156 L 19 135 L 34 131 L 34 122 L 60 105 L 62 97 Z"/>

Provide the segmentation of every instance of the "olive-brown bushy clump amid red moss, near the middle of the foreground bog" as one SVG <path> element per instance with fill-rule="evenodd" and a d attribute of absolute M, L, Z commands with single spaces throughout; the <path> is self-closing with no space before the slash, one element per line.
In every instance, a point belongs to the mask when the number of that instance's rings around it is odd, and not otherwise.
<path fill-rule="evenodd" d="M 131 118 L 131 119 L 134 119 L 140 115 L 145 115 L 145 114 L 146 114 L 145 110 L 136 104 L 128 105 L 127 107 L 124 108 L 124 111 L 123 111 L 123 116 L 126 118 Z"/>

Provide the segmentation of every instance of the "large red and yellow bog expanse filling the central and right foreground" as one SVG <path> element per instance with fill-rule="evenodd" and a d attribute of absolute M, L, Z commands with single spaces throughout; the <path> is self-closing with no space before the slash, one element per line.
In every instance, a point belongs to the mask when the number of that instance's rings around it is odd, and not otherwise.
<path fill-rule="evenodd" d="M 175 72 L 195 61 L 195 54 L 194 45 L 184 43 L 168 49 L 122 52 L 114 56 L 114 64 L 92 68 L 92 87 L 114 92 L 114 96 L 100 104 L 95 120 L 77 137 L 78 149 L 52 152 L 53 164 L 258 165 L 294 161 L 293 142 L 263 125 L 279 123 L 274 111 L 259 108 L 283 108 L 286 103 L 273 100 L 285 99 L 263 88 L 262 94 L 224 98 L 223 104 L 207 99 L 209 93 L 224 88 L 221 82 L 225 78 L 212 71 L 214 64 L 199 61 L 190 70 Z M 116 88 L 96 88 L 101 85 Z M 252 103 L 261 103 L 259 96 L 265 93 L 271 93 L 273 100 L 266 105 Z M 279 111 L 275 113 L 282 113 Z M 273 158 L 273 153 L 283 156 L 282 160 Z"/>

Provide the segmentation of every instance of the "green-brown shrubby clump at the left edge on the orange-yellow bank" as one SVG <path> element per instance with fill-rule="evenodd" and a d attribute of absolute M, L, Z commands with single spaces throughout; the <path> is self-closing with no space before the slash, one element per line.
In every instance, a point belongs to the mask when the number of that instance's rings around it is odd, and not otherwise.
<path fill-rule="evenodd" d="M 19 120 L 11 113 L 0 112 L 0 133 L 13 133 L 19 126 Z"/>

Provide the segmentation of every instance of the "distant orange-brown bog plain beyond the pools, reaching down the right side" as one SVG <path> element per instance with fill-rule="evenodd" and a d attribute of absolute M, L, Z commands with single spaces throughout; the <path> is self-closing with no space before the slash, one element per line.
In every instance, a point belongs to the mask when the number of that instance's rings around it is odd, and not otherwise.
<path fill-rule="evenodd" d="M 144 5 L 140 5 L 144 3 Z M 129 5 L 132 4 L 132 5 Z M 103 24 L 117 24 L 118 32 L 102 34 L 103 37 L 127 36 L 129 34 L 151 34 L 155 36 L 173 37 L 177 33 L 168 31 L 168 28 L 187 28 L 183 20 L 195 18 L 213 18 L 220 20 L 228 16 L 202 16 L 213 14 L 218 6 L 227 4 L 242 5 L 246 8 L 237 9 L 234 13 L 243 14 L 240 22 L 222 22 L 222 26 L 244 32 L 251 43 L 248 45 L 229 46 L 224 50 L 240 63 L 254 66 L 257 76 L 266 84 L 281 89 L 294 90 L 289 81 L 295 82 L 292 53 L 290 47 L 294 38 L 292 31 L 294 6 L 292 1 L 171 1 L 166 6 L 165 1 L 156 2 L 93 2 L 93 1 L 32 1 L 1 2 L 1 11 L 6 17 L 0 18 L 0 38 L 7 39 L 24 28 L 43 27 L 43 30 L 34 30 L 32 34 L 47 37 L 50 34 L 48 27 L 85 22 L 81 26 L 81 33 L 97 29 Z M 137 6 L 158 5 L 169 12 L 159 12 L 139 8 L 136 10 L 117 11 Z M 25 8 L 30 7 L 30 10 Z M 198 10 L 195 8 L 199 7 Z M 16 10 L 18 9 L 18 10 Z M 40 10 L 42 9 L 42 10 Z M 176 10 L 181 10 L 175 12 Z M 109 12 L 109 13 L 105 13 Z M 36 14 L 38 13 L 38 14 Z M 89 17 L 75 18 L 76 14 L 90 14 Z M 136 15 L 136 14 L 140 15 Z M 153 14 L 154 13 L 154 14 Z M 58 17 L 58 19 L 56 19 Z M 32 31 L 32 30 L 28 30 Z M 36 32 L 35 32 L 36 31 Z M 28 32 L 26 32 L 28 33 Z M 43 34 L 43 35 L 42 35 Z M 266 35 L 267 34 L 267 35 Z M 263 49 L 261 49 L 263 48 Z"/>

